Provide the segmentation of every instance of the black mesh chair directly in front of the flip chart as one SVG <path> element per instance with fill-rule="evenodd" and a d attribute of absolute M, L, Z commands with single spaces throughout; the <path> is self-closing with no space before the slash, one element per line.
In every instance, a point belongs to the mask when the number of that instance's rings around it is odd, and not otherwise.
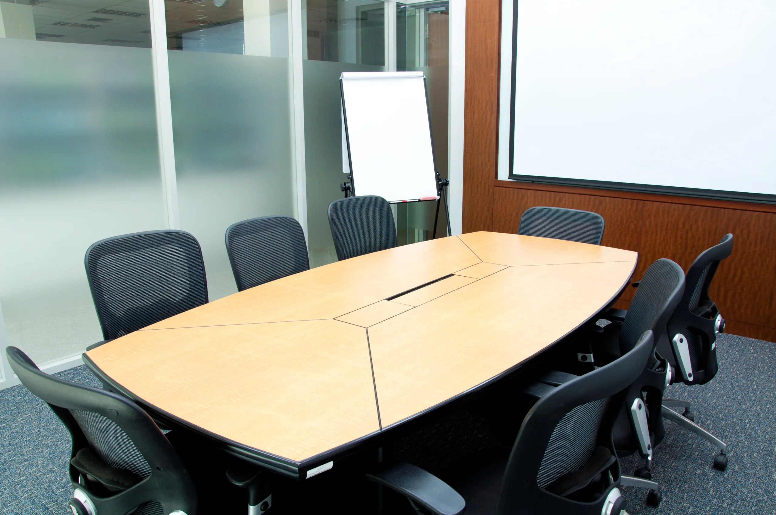
<path fill-rule="evenodd" d="M 364 195 L 331 202 L 329 225 L 339 261 L 397 246 L 393 212 L 383 197 Z"/>

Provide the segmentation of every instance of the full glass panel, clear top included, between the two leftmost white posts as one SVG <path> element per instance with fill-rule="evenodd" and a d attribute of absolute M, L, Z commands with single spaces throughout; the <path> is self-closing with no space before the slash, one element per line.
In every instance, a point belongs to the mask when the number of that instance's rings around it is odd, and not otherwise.
<path fill-rule="evenodd" d="M 213 300 L 237 291 L 227 227 L 294 214 L 286 1 L 165 8 L 181 226 L 202 245 Z"/>

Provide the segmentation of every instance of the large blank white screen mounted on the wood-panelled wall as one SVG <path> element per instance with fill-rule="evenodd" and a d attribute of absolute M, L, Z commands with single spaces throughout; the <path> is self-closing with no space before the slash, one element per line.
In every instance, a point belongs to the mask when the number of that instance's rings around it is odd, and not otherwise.
<path fill-rule="evenodd" d="M 776 2 L 513 5 L 511 178 L 774 200 Z"/>

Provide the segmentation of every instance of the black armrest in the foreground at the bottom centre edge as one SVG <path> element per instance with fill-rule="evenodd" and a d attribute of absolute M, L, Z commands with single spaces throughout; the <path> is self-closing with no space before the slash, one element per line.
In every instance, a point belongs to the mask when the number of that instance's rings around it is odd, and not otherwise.
<path fill-rule="evenodd" d="M 366 479 L 407 496 L 436 515 L 459 515 L 466 501 L 446 482 L 409 463 L 395 463 L 367 474 Z"/>

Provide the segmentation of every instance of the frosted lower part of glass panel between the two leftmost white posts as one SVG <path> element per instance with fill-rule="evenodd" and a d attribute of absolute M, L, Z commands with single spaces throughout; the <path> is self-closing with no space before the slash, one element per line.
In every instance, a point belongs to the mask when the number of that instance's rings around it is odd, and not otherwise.
<path fill-rule="evenodd" d="M 181 226 L 214 300 L 237 292 L 227 227 L 294 214 L 288 59 L 171 50 L 169 63 Z"/>

